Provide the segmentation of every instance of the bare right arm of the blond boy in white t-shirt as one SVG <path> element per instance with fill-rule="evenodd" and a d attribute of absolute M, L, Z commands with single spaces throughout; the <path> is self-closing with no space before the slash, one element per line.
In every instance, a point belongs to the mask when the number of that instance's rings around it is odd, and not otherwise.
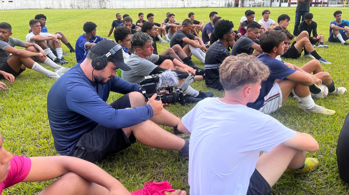
<path fill-rule="evenodd" d="M 294 137 L 282 144 L 307 152 L 315 152 L 319 150 L 319 143 L 311 135 L 301 132 L 296 132 Z"/>

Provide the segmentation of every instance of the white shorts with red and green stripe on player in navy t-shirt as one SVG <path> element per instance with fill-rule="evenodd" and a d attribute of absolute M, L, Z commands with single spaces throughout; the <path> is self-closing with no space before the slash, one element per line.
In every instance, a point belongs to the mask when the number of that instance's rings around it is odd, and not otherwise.
<path fill-rule="evenodd" d="M 282 93 L 277 82 L 270 89 L 269 93 L 264 96 L 263 106 L 259 109 L 264 114 L 270 114 L 278 110 L 282 105 Z"/>

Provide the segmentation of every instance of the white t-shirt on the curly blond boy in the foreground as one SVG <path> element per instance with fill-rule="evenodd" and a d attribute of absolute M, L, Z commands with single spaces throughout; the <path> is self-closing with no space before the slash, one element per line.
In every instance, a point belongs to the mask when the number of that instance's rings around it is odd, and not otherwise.
<path fill-rule="evenodd" d="M 196 104 L 182 122 L 191 132 L 191 195 L 246 194 L 260 151 L 296 134 L 258 110 L 213 97 Z"/>

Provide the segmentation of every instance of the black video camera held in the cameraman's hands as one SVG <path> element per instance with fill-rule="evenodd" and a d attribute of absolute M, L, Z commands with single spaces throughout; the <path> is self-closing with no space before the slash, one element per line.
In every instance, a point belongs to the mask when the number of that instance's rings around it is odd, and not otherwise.
<path fill-rule="evenodd" d="M 177 89 L 173 90 L 173 86 L 166 86 L 166 87 L 160 87 L 157 88 L 156 84 L 159 82 L 160 76 L 159 74 L 153 74 L 150 76 L 144 77 L 143 80 L 138 82 L 141 86 L 139 86 L 139 89 L 145 89 L 142 91 L 143 95 L 146 96 L 146 101 L 150 99 L 151 96 L 153 96 L 155 93 L 157 94 L 156 99 L 161 100 L 162 103 L 173 103 L 176 104 L 179 102 L 184 106 L 184 96 L 183 96 L 183 90 L 179 86 Z M 168 91 L 170 94 L 161 93 L 162 91 Z"/>

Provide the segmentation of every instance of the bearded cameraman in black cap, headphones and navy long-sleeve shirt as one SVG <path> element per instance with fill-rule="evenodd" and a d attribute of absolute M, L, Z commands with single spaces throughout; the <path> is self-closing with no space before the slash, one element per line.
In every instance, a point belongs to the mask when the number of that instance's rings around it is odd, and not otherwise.
<path fill-rule="evenodd" d="M 118 68 L 131 70 L 121 46 L 103 40 L 52 85 L 47 114 L 57 152 L 100 162 L 138 140 L 188 156 L 189 141 L 157 125 L 177 128 L 179 118 L 163 109 L 156 94 L 145 102 L 138 84 L 116 77 Z M 125 95 L 109 105 L 110 91 Z"/>

